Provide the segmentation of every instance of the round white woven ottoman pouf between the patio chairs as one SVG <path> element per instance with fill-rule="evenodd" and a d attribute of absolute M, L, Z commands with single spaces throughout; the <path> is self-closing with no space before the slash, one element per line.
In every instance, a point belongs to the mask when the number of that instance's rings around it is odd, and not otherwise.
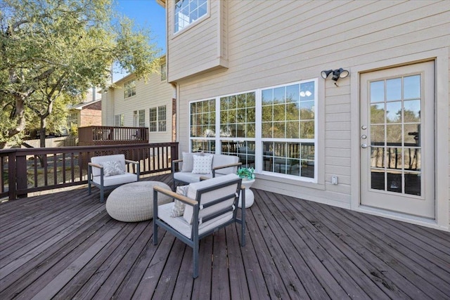
<path fill-rule="evenodd" d="M 139 222 L 153 219 L 153 186 L 171 190 L 169 185 L 160 181 L 137 181 L 120 185 L 106 200 L 106 211 L 117 221 Z M 172 198 L 161 193 L 158 204 L 172 202 Z"/>

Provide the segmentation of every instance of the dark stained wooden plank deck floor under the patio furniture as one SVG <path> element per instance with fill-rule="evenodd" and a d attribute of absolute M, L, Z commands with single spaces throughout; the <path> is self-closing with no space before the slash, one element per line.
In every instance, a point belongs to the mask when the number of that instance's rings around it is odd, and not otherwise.
<path fill-rule="evenodd" d="M 253 190 L 246 246 L 205 238 L 195 280 L 191 248 L 98 189 L 0 204 L 0 299 L 450 299 L 450 233 Z"/>

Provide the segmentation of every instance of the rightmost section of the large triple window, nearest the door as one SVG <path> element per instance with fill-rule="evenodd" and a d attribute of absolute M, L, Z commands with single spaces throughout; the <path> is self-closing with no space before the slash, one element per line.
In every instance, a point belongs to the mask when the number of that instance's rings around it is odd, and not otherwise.
<path fill-rule="evenodd" d="M 264 171 L 314 178 L 315 82 L 262 90 Z"/>

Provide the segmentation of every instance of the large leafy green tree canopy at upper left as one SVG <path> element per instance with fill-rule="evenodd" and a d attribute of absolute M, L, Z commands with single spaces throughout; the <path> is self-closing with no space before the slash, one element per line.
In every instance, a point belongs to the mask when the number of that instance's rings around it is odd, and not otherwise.
<path fill-rule="evenodd" d="M 159 67 L 149 30 L 112 25 L 111 0 L 0 0 L 0 148 L 23 132 L 25 108 L 45 119 L 61 95 L 107 86 L 117 62 L 138 79 Z M 37 110 L 36 107 L 39 107 Z"/>

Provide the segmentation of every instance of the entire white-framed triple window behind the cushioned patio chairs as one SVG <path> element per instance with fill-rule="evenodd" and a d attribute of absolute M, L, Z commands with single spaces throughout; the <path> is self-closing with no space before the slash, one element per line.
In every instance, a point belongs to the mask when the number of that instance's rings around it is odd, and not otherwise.
<path fill-rule="evenodd" d="M 316 179 L 316 85 L 313 79 L 190 103 L 191 150 L 238 155 L 261 173 Z"/>

